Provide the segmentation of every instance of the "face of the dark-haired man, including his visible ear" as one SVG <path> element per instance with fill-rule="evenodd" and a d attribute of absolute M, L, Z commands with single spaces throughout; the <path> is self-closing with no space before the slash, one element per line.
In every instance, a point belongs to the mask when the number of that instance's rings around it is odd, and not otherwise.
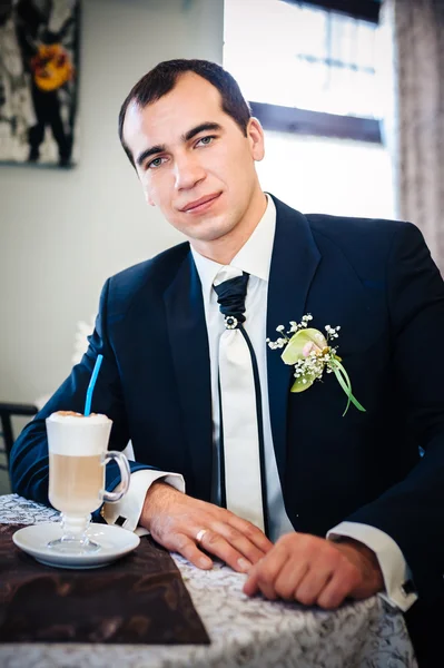
<path fill-rule="evenodd" d="M 124 136 L 147 202 L 191 242 L 236 234 L 248 218 L 260 193 L 263 131 L 250 119 L 245 137 L 206 79 L 187 72 L 158 101 L 130 105 Z"/>

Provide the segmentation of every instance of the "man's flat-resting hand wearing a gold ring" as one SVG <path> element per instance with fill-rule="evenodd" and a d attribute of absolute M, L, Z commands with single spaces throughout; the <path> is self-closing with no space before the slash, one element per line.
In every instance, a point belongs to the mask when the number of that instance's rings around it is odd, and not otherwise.
<path fill-rule="evenodd" d="M 149 488 L 139 522 L 161 546 L 203 569 L 210 569 L 213 561 L 199 548 L 240 572 L 248 571 L 273 548 L 263 531 L 250 522 L 165 482 L 155 482 Z M 203 530 L 198 542 L 197 534 Z"/>

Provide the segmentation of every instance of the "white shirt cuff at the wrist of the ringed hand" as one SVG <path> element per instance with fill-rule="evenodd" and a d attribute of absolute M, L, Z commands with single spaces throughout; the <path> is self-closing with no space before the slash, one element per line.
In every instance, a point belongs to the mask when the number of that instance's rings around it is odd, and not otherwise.
<path fill-rule="evenodd" d="M 160 478 L 162 478 L 162 482 L 167 482 L 180 492 L 185 492 L 185 480 L 179 473 L 167 473 L 152 469 L 136 471 L 131 473 L 129 490 L 125 497 L 116 503 L 103 503 L 101 514 L 107 523 L 115 524 L 118 520 L 117 524 L 124 527 L 124 529 L 128 529 L 128 531 L 136 531 L 137 529 L 136 533 L 139 536 L 149 533 L 147 529 L 137 525 L 144 508 L 145 497 L 151 484 Z M 114 491 L 120 491 L 120 483 Z"/>

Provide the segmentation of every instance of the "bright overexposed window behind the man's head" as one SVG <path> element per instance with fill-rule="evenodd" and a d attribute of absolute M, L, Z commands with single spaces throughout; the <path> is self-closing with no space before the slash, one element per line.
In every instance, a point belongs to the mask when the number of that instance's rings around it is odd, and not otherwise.
<path fill-rule="evenodd" d="M 262 185 L 299 210 L 394 217 L 377 32 L 293 0 L 225 0 L 224 67 L 266 134 Z"/>

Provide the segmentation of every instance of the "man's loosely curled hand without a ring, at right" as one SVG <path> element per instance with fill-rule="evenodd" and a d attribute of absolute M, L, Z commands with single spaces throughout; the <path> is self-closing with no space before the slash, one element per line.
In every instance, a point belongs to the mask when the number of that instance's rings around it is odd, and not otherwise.
<path fill-rule="evenodd" d="M 346 597 L 364 599 L 384 588 L 375 553 L 353 539 L 333 542 L 287 533 L 248 572 L 244 592 L 268 599 L 337 608 Z"/>

